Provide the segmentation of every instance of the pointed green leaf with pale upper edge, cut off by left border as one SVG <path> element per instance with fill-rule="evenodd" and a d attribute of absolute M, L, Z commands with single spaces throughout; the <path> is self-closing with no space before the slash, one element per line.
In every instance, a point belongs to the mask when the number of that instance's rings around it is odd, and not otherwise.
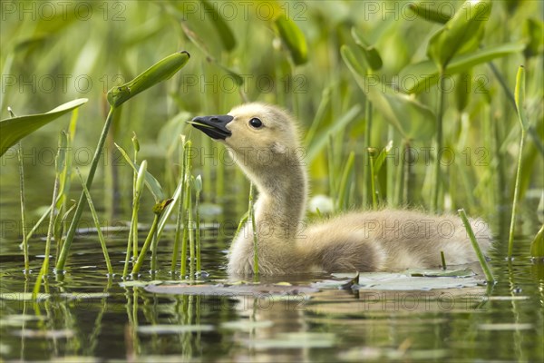
<path fill-rule="evenodd" d="M 38 130 L 47 123 L 51 123 L 64 113 L 71 112 L 87 101 L 86 98 L 79 98 L 69 103 L 63 103 L 47 113 L 29 114 L 0 121 L 0 156 L 4 155 L 7 149 L 23 139 L 24 136 Z"/>

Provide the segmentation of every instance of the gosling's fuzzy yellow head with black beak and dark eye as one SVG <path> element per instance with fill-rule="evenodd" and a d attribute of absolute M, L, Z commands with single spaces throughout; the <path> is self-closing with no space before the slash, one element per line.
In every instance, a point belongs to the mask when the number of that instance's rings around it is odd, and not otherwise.
<path fill-rule="evenodd" d="M 199 116 L 189 122 L 227 145 L 238 164 L 259 172 L 302 154 L 296 123 L 284 110 L 265 103 L 246 103 L 226 115 Z"/>

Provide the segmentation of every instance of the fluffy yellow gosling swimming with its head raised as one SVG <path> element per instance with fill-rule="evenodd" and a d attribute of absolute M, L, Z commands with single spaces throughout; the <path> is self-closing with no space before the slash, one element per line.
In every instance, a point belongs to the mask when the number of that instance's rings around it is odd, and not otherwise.
<path fill-rule="evenodd" d="M 350 212 L 306 226 L 307 177 L 295 120 L 276 106 L 247 103 L 227 115 L 195 117 L 195 128 L 224 143 L 257 186 L 255 219 L 262 274 L 308 270 L 376 271 L 431 268 L 476 261 L 461 220 L 418 211 Z M 489 228 L 471 221 L 485 253 Z M 233 240 L 228 272 L 251 274 L 254 262 L 250 221 Z"/>

